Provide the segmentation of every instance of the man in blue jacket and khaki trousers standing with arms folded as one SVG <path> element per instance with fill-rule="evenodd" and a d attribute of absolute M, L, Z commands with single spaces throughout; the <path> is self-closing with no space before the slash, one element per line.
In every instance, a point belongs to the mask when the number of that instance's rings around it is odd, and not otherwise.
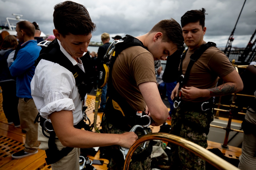
<path fill-rule="evenodd" d="M 20 21 L 16 24 L 17 38 L 22 42 L 16 59 L 9 70 L 16 80 L 16 96 L 19 97 L 18 112 L 20 126 L 26 131 L 25 148 L 12 154 L 12 158 L 20 159 L 38 152 L 37 140 L 38 123 L 34 124 L 37 108 L 31 96 L 30 83 L 35 73 L 34 61 L 39 56 L 41 47 L 34 39 L 35 26 L 29 21 Z"/>

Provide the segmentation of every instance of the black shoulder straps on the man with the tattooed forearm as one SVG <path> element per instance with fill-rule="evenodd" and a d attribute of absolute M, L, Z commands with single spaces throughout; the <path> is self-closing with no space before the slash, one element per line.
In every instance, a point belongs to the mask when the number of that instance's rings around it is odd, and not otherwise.
<path fill-rule="evenodd" d="M 209 47 L 214 47 L 216 46 L 215 43 L 213 42 L 208 42 L 206 44 L 202 44 L 198 49 L 195 50 L 195 52 L 190 56 L 190 61 L 188 63 L 188 67 L 187 70 L 185 72 L 184 78 L 182 80 L 182 83 L 179 83 L 179 89 L 181 87 L 183 87 L 183 84 L 186 84 L 186 82 L 188 81 L 188 77 L 190 74 L 190 70 L 192 68 L 192 66 L 194 65 L 194 63 L 201 57 L 201 55 L 205 52 L 205 50 L 207 50 Z M 182 55 L 182 58 L 180 60 L 180 67 L 179 67 L 179 73 L 180 75 L 182 75 L 182 63 L 184 58 L 186 57 L 186 53 L 187 53 L 188 49 L 185 51 L 185 53 Z"/>

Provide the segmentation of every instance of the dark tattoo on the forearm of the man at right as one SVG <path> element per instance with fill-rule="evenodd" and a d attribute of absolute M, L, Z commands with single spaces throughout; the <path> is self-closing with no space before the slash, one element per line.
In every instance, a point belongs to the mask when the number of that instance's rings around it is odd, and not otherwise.
<path fill-rule="evenodd" d="M 222 96 L 234 93 L 237 88 L 235 85 L 222 84 L 219 87 L 209 88 L 208 90 L 210 91 L 210 96 Z"/>

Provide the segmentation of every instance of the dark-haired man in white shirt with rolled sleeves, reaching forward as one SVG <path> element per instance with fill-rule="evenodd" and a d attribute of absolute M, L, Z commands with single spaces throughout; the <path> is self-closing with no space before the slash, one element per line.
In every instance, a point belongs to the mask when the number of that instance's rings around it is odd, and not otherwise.
<path fill-rule="evenodd" d="M 86 62 L 80 58 L 88 51 L 96 25 L 83 5 L 71 1 L 54 7 L 54 25 L 53 33 L 57 40 L 46 47 L 36 61 L 31 93 L 41 116 L 40 124 L 44 123 L 41 122 L 43 119 L 51 122 L 56 135 L 49 139 L 52 133 L 46 132 L 44 126 L 38 126 L 38 141 L 41 142 L 40 149 L 46 150 L 47 164 L 51 164 L 53 170 L 79 169 L 79 148 L 109 145 L 130 148 L 137 135 L 133 132 L 100 134 L 75 128 L 83 122 L 81 106 L 86 100 L 86 92 L 76 85 L 76 75 L 58 63 L 79 66 L 83 74 L 88 74 Z M 85 90 L 90 89 L 90 81 L 84 82 Z"/>

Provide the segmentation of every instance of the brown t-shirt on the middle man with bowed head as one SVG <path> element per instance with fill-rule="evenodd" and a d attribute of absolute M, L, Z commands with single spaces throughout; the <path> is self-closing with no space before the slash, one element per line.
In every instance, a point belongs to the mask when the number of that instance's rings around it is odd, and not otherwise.
<path fill-rule="evenodd" d="M 144 82 L 156 82 L 152 54 L 140 46 L 123 50 L 114 63 L 112 80 L 115 89 L 133 109 L 144 111 L 146 103 L 138 85 Z"/>

